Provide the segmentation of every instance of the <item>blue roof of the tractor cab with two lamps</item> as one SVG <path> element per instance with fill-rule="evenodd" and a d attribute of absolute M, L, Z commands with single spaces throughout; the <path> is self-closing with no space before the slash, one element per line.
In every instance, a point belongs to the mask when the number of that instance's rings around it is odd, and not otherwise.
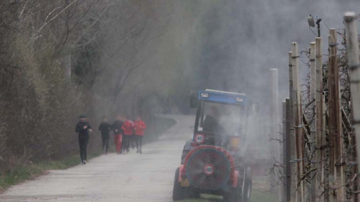
<path fill-rule="evenodd" d="M 243 93 L 217 91 L 212 89 L 199 91 L 198 99 L 208 102 L 217 102 L 231 105 L 247 104 L 247 96 Z"/>

